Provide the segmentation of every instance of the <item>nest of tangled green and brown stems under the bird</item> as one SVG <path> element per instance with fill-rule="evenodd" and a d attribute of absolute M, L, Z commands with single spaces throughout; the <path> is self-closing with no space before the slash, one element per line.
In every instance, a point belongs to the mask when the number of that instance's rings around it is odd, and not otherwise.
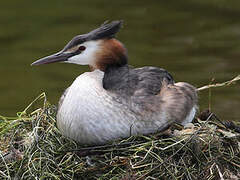
<path fill-rule="evenodd" d="M 239 128 L 213 113 L 187 127 L 83 147 L 60 134 L 54 106 L 45 99 L 28 113 L 33 103 L 16 118 L 0 116 L 0 179 L 240 178 Z"/>

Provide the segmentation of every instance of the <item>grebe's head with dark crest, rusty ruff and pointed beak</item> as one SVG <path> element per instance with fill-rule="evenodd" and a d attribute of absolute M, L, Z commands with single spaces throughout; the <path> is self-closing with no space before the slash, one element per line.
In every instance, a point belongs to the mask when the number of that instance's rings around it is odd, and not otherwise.
<path fill-rule="evenodd" d="M 31 65 L 66 62 L 89 65 L 92 70 L 105 71 L 108 65 L 127 64 L 127 50 L 114 38 L 122 21 L 104 23 L 99 28 L 83 35 L 75 36 L 61 51 L 41 58 Z"/>

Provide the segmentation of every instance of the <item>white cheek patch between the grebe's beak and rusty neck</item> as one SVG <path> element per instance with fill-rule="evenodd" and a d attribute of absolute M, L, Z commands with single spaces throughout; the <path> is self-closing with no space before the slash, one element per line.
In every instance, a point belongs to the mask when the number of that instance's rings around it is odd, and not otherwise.
<path fill-rule="evenodd" d="M 94 61 L 96 60 L 96 52 L 100 49 L 99 44 L 100 41 L 88 41 L 81 44 L 81 46 L 85 46 L 86 49 L 82 53 L 70 57 L 67 62 L 80 65 L 94 64 Z"/>

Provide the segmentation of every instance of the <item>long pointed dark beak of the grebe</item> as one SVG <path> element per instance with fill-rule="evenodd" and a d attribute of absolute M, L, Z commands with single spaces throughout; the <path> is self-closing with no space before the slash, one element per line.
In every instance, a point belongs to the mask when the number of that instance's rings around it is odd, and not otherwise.
<path fill-rule="evenodd" d="M 56 54 L 41 58 L 41 59 L 33 62 L 31 64 L 31 66 L 41 65 L 41 64 L 50 64 L 50 63 L 55 63 L 55 62 L 63 62 L 63 61 L 67 61 L 69 57 L 71 57 L 71 54 L 58 52 Z"/>

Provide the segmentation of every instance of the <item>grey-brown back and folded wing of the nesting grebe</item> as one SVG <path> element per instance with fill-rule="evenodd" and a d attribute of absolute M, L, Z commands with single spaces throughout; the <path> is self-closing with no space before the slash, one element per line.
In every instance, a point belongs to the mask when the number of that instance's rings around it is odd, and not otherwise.
<path fill-rule="evenodd" d="M 132 111 L 144 117 L 161 115 L 182 123 L 197 106 L 197 93 L 192 85 L 174 83 L 166 70 L 157 67 L 111 68 L 105 72 L 103 86 L 125 97 Z"/>

